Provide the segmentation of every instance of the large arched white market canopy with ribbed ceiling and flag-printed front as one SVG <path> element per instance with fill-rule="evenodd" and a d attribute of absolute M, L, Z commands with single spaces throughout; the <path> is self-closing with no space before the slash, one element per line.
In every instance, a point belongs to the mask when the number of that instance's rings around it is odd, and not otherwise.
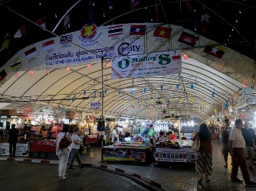
<path fill-rule="evenodd" d="M 176 50 L 182 50 L 182 73 L 112 79 L 115 60 Z M 195 31 L 161 23 L 85 24 L 19 50 L 2 66 L 2 109 L 100 115 L 90 103 L 102 98 L 101 57 L 104 115 L 217 115 L 242 84 L 254 87 L 254 60 Z"/>

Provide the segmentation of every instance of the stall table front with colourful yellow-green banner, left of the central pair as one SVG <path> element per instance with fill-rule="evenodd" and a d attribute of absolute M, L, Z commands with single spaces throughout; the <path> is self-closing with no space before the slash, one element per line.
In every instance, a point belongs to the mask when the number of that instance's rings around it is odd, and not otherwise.
<path fill-rule="evenodd" d="M 110 145 L 102 148 L 103 161 L 108 160 L 130 160 L 146 162 L 151 157 L 149 144 L 140 145 Z"/>

